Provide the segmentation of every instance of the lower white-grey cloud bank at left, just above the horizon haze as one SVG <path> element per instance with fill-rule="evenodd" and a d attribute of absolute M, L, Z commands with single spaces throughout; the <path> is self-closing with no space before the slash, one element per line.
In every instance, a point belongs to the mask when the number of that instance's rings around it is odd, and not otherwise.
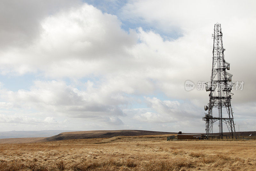
<path fill-rule="evenodd" d="M 123 115 L 118 105 L 124 103 L 125 97 L 94 88 L 90 81 L 85 85 L 87 90 L 79 91 L 63 81 L 36 81 L 30 91 L 2 90 L 1 97 L 16 108 L 36 109 L 48 114 L 78 118 Z"/>

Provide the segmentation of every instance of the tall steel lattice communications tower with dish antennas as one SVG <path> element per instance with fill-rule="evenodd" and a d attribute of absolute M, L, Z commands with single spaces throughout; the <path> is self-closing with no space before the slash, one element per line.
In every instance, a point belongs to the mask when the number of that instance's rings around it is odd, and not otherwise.
<path fill-rule="evenodd" d="M 225 49 L 222 44 L 222 32 L 219 23 L 214 25 L 214 34 L 212 34 L 212 37 L 212 77 L 211 81 L 206 83 L 206 91 L 210 91 L 210 101 L 208 106 L 204 106 L 204 110 L 208 110 L 208 113 L 205 113 L 203 117 L 203 120 L 206 122 L 205 131 L 208 138 L 209 135 L 213 133 L 213 123 L 219 121 L 220 138 L 223 138 L 222 123 L 226 123 L 228 126 L 230 136 L 236 138 L 233 112 L 230 103 L 231 96 L 233 95 L 231 89 L 234 83 L 231 83 L 232 74 L 226 71 L 229 70 L 230 64 L 224 59 Z M 213 110 L 213 108 L 216 110 Z M 216 116 L 217 113 L 219 113 L 218 116 Z"/>

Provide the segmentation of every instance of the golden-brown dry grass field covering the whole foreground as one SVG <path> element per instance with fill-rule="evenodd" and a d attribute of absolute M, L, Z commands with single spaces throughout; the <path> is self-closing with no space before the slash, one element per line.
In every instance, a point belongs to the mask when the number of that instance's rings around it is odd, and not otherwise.
<path fill-rule="evenodd" d="M 256 141 L 166 141 L 167 135 L 0 144 L 0 171 L 256 170 Z"/>

